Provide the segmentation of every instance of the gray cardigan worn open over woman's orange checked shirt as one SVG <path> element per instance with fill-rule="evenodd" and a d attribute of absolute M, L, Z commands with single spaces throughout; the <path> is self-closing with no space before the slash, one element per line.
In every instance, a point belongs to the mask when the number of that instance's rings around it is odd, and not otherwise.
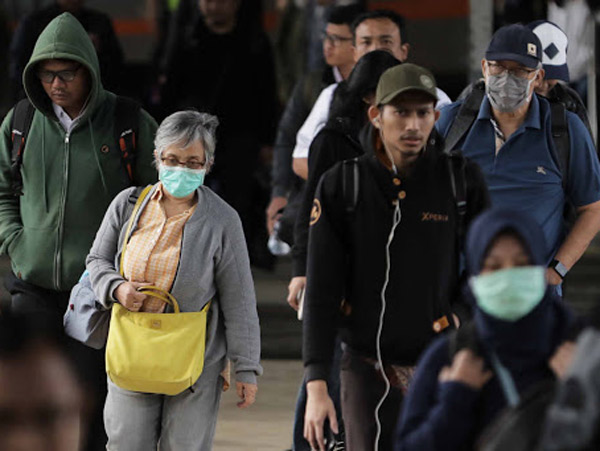
<path fill-rule="evenodd" d="M 134 230 L 156 185 L 144 199 Z M 119 274 L 120 250 L 125 225 L 132 213 L 136 191 L 128 188 L 112 201 L 86 259 L 97 299 L 110 308 L 113 293 L 124 279 Z M 233 208 L 201 186 L 198 205 L 183 228 L 179 267 L 171 294 L 181 311 L 200 311 L 211 305 L 206 331 L 205 366 L 233 363 L 238 382 L 256 383 L 260 366 L 260 329 L 254 284 L 246 241 L 239 216 Z"/>

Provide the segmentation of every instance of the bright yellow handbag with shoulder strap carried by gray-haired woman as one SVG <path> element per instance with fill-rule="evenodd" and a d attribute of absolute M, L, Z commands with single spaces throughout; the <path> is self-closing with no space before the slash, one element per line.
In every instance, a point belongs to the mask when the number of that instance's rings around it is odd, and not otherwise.
<path fill-rule="evenodd" d="M 139 199 L 138 203 L 141 204 Z M 126 241 L 138 203 L 129 221 Z M 125 246 L 121 274 L 124 254 Z M 106 343 L 106 372 L 126 390 L 177 395 L 191 387 L 202 373 L 210 302 L 199 312 L 181 312 L 170 293 L 154 286 L 139 291 L 172 305 L 174 312 L 131 312 L 115 303 Z"/>

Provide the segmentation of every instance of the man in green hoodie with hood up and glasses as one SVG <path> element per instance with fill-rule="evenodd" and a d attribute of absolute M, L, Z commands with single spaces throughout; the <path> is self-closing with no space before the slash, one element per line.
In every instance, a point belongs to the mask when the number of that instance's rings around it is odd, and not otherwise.
<path fill-rule="evenodd" d="M 117 97 L 100 80 L 92 41 L 75 17 L 63 13 L 41 33 L 25 67 L 33 119 L 21 141 L 20 165 L 12 161 L 15 109 L 0 128 L 0 252 L 11 260 L 5 279 L 11 307 L 60 325 L 108 205 L 127 186 L 156 180 L 156 122 L 135 110 L 134 160 L 124 164 L 116 138 L 123 130 L 116 119 Z M 19 175 L 22 186 L 16 190 Z M 103 449 L 103 353 L 72 345 L 97 391 L 94 444 L 85 449 Z"/>

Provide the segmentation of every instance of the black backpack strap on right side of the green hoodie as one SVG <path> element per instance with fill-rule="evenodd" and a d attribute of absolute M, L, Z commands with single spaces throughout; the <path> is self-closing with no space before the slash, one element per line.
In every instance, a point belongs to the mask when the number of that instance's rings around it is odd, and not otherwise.
<path fill-rule="evenodd" d="M 140 104 L 128 97 L 117 96 L 115 104 L 115 142 L 121 150 L 129 181 L 133 180 L 133 164 L 138 131 Z"/>

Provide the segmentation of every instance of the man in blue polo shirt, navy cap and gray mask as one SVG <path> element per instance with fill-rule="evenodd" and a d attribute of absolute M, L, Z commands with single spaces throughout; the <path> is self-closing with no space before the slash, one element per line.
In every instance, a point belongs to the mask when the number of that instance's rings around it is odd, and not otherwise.
<path fill-rule="evenodd" d="M 561 169 L 551 105 L 534 94 L 544 79 L 542 52 L 550 50 L 523 25 L 500 28 L 481 62 L 486 95 L 453 147 L 479 164 L 494 206 L 537 219 L 549 244 L 547 278 L 559 286 L 600 230 L 600 165 L 585 125 L 566 111 L 570 152 Z M 459 101 L 442 110 L 436 127 L 444 137 L 449 138 L 461 106 Z M 567 202 L 577 212 L 570 231 L 563 221 Z"/>

